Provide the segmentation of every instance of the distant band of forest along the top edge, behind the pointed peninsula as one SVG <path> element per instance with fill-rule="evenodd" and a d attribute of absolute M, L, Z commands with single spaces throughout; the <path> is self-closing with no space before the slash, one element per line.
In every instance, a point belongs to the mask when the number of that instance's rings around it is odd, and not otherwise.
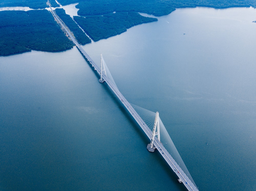
<path fill-rule="evenodd" d="M 78 14 L 104 15 L 116 12 L 144 12 L 155 16 L 168 15 L 175 8 L 184 7 L 256 7 L 256 0 L 59 0 L 62 5 L 79 2 Z"/>

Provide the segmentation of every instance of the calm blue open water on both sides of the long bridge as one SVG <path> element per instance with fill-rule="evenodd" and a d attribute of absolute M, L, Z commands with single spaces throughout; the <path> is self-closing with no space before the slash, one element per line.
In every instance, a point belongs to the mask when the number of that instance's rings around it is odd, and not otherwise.
<path fill-rule="evenodd" d="M 256 189 L 254 20 L 177 9 L 84 45 L 159 111 L 199 190 Z M 1 190 L 186 190 L 76 48 L 0 57 L 0 82 Z"/>

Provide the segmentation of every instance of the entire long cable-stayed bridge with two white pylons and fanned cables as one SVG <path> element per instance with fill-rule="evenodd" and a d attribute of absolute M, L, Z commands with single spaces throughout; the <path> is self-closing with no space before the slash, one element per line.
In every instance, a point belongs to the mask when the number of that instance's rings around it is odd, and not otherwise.
<path fill-rule="evenodd" d="M 141 129 L 145 132 L 147 137 L 151 140 L 151 143 L 148 144 L 147 149 L 151 152 L 155 150 L 155 148 L 159 151 L 165 161 L 168 163 L 170 168 L 175 172 L 175 174 L 179 177 L 178 181 L 183 183 L 188 190 L 196 191 L 198 187 L 193 181 L 191 175 L 189 174 L 186 165 L 184 164 L 182 158 L 180 157 L 176 147 L 174 146 L 172 139 L 167 133 L 161 119 L 159 118 L 159 113 L 148 111 L 146 109 L 140 108 L 129 103 L 126 98 L 122 95 L 122 93 L 118 90 L 115 82 L 112 80 L 111 75 L 107 75 L 106 65 L 101 56 L 101 67 L 99 67 L 90 56 L 84 51 L 84 49 L 77 42 L 75 37 L 71 34 L 66 25 L 60 20 L 60 18 L 56 15 L 55 11 L 52 10 L 50 4 L 48 6 L 51 9 L 52 15 L 55 17 L 56 21 L 61 25 L 61 27 L 66 31 L 70 39 L 80 50 L 81 54 L 86 57 L 87 61 L 92 65 L 94 70 L 100 76 L 99 82 L 105 82 L 116 97 L 119 98 L 120 102 L 124 105 L 127 111 L 131 114 L 131 116 L 135 119 Z M 103 68 L 103 69 L 102 69 Z M 151 116 L 151 117 L 149 117 Z M 153 117 L 153 120 L 151 120 Z M 144 118 L 144 120 L 142 119 Z M 152 125 L 153 123 L 154 125 Z M 151 127 L 151 128 L 150 128 Z M 153 129 L 152 129 L 153 128 Z"/>

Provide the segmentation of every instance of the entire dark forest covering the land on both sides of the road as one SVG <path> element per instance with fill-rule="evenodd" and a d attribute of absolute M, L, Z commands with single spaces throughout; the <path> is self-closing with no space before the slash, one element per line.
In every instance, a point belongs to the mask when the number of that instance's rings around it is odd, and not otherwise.
<path fill-rule="evenodd" d="M 49 0 L 53 7 L 59 5 Z M 26 6 L 45 8 L 47 0 L 2 0 L 0 7 Z M 155 16 L 167 15 L 176 8 L 184 7 L 256 7 L 256 0 L 58 0 L 61 5 L 77 3 L 78 15 L 74 20 L 94 40 L 108 38 L 125 32 L 137 24 L 156 21 L 137 12 Z M 63 9 L 57 14 L 70 28 L 81 44 L 90 39 L 81 32 L 72 18 Z M 114 13 L 115 12 L 115 13 Z M 85 37 L 86 36 L 86 37 Z M 47 10 L 0 11 L 0 56 L 22 53 L 30 50 L 61 51 L 73 43 L 61 31 Z"/>

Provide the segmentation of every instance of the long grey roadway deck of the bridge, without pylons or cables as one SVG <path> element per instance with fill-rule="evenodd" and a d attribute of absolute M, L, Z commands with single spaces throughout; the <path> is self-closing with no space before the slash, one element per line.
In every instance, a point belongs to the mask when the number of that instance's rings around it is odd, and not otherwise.
<path fill-rule="evenodd" d="M 100 71 L 100 68 L 98 67 L 98 65 L 84 51 L 84 49 L 80 46 L 80 44 L 77 42 L 77 40 L 71 35 L 69 30 L 66 28 L 66 26 L 64 24 L 62 24 L 62 22 L 60 21 L 59 17 L 56 15 L 55 11 L 53 11 L 51 7 L 50 7 L 50 9 L 51 9 L 52 14 L 55 16 L 56 20 L 60 23 L 60 25 L 63 27 L 63 29 L 67 32 L 67 34 L 69 35 L 69 37 L 71 38 L 73 43 L 76 44 L 76 46 L 80 50 L 80 52 L 87 58 L 87 60 L 92 65 L 92 67 L 94 67 L 94 70 L 96 70 L 98 72 L 98 74 L 100 75 L 101 71 Z M 120 101 L 125 106 L 125 108 L 131 113 L 131 115 L 133 116 L 135 121 L 138 123 L 138 125 L 140 125 L 142 130 L 145 132 L 145 134 L 151 140 L 151 138 L 152 138 L 152 131 L 150 130 L 150 128 L 146 125 L 146 123 L 142 120 L 142 118 L 134 110 L 134 108 L 131 106 L 131 104 L 125 99 L 123 94 L 118 90 L 118 88 L 111 82 L 111 80 L 104 73 L 102 73 L 102 78 L 105 80 L 105 82 L 108 84 L 108 86 L 114 92 L 114 94 L 120 99 Z M 191 190 L 191 191 L 198 190 L 198 188 L 188 178 L 188 176 L 185 174 L 185 172 L 179 167 L 179 165 L 175 162 L 175 160 L 169 154 L 169 152 L 164 148 L 162 143 L 158 141 L 158 139 L 154 140 L 154 145 L 155 145 L 156 149 L 160 152 L 160 154 L 163 156 L 163 158 L 166 160 L 166 162 L 169 164 L 171 169 L 182 180 L 182 182 L 186 186 L 186 188 L 188 190 Z"/>

